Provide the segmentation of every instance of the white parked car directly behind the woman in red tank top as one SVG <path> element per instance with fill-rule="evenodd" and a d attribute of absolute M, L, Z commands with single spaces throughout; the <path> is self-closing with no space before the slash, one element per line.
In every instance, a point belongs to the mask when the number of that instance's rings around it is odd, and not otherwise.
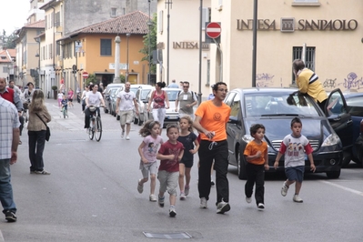
<path fill-rule="evenodd" d="M 179 88 L 163 88 L 163 90 L 166 92 L 167 97 L 169 98 L 169 108 L 166 109 L 166 116 L 164 119 L 164 126 L 167 124 L 173 124 L 177 123 L 179 121 L 179 113 L 176 112 L 176 98 L 177 95 L 180 92 Z M 147 102 L 151 98 L 150 92 L 147 96 Z M 151 103 L 151 107 L 153 106 L 153 103 Z M 150 108 L 150 111 L 148 112 L 148 119 L 154 119 L 153 118 L 153 111 L 152 108 Z"/>

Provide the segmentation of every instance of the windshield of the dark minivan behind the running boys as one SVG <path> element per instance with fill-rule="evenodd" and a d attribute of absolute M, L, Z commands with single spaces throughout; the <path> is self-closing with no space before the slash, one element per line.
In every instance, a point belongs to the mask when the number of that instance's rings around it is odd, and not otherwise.
<path fill-rule="evenodd" d="M 287 93 L 245 95 L 247 117 L 250 116 L 319 116 L 307 96 Z"/>

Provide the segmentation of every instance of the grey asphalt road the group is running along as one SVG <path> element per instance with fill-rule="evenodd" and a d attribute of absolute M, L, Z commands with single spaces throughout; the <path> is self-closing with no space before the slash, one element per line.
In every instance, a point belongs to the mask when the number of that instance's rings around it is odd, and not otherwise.
<path fill-rule="evenodd" d="M 168 203 L 160 208 L 136 190 L 142 138 L 132 126 L 131 140 L 120 138 L 116 118 L 102 113 L 104 133 L 90 141 L 83 129 L 81 107 L 64 119 L 55 100 L 47 99 L 53 116 L 51 140 L 45 145 L 45 169 L 50 176 L 30 175 L 26 129 L 19 160 L 12 166 L 17 205 L 16 223 L 0 219 L 5 241 L 165 241 L 144 232 L 185 232 L 187 241 L 362 241 L 363 169 L 350 165 L 339 179 L 307 175 L 300 192 L 304 203 L 292 201 L 293 187 L 281 197 L 283 176 L 269 175 L 265 211 L 247 204 L 245 181 L 229 166 L 231 210 L 216 214 L 216 190 L 207 209 L 199 208 L 197 166 L 192 169 L 190 195 L 176 201 L 176 217 Z M 165 136 L 165 130 L 163 133 Z M 197 156 L 195 156 L 197 164 Z M 158 182 L 156 182 L 156 190 Z M 173 235 L 172 235 L 173 236 Z"/>

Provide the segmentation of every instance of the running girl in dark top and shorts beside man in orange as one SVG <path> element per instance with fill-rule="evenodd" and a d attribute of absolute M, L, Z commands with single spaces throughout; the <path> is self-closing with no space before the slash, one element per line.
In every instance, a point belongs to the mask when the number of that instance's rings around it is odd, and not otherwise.
<path fill-rule="evenodd" d="M 197 153 L 199 142 L 196 134 L 193 133 L 193 120 L 190 116 L 182 116 L 179 121 L 180 135 L 177 141 L 184 146 L 184 155 L 179 162 L 179 188 L 180 200 L 186 199 L 190 189 L 190 170 L 194 162 L 194 154 Z M 186 177 L 186 187 L 184 187 L 184 176 Z"/>

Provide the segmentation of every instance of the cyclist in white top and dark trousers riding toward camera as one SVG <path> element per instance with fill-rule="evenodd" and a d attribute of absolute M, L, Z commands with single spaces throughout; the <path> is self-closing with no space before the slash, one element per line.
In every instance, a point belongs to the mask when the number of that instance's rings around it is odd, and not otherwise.
<path fill-rule="evenodd" d="M 89 119 L 90 116 L 97 112 L 98 116 L 101 116 L 99 111 L 99 106 L 105 106 L 105 100 L 102 97 L 100 92 L 97 92 L 98 86 L 97 85 L 90 85 L 89 92 L 86 93 L 86 109 L 85 109 L 85 128 L 89 128 Z M 89 106 L 96 106 L 96 111 L 91 112 L 89 110 Z"/>

